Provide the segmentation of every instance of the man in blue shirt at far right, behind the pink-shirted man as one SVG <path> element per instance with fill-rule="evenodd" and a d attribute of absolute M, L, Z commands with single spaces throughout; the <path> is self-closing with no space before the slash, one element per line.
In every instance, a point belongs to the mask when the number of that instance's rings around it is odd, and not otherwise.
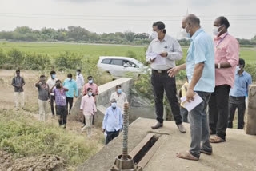
<path fill-rule="evenodd" d="M 230 89 L 228 128 L 233 128 L 234 113 L 238 109 L 238 129 L 243 129 L 246 95 L 248 95 L 248 86 L 252 83 L 250 74 L 244 70 L 245 65 L 245 60 L 240 58 L 234 78 L 234 87 Z"/>

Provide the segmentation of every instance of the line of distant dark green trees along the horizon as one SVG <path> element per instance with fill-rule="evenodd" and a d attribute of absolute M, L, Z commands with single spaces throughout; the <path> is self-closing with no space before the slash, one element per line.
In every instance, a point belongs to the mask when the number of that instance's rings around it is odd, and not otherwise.
<path fill-rule="evenodd" d="M 54 30 L 42 28 L 33 30 L 28 26 L 18 26 L 13 31 L 1 31 L 0 39 L 6 41 L 24 42 L 85 42 L 108 44 L 147 45 L 150 43 L 149 34 L 136 34 L 131 31 L 109 34 L 97 34 L 90 32 L 81 26 L 69 26 L 67 29 Z M 190 40 L 178 40 L 182 46 L 190 46 Z M 240 45 L 256 46 L 256 35 L 251 39 L 238 38 Z"/>

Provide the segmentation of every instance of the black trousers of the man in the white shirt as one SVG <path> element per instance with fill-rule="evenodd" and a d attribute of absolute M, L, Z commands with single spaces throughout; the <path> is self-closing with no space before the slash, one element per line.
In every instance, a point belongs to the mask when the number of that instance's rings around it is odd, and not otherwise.
<path fill-rule="evenodd" d="M 176 81 L 175 78 L 170 78 L 167 73 L 158 74 L 152 71 L 151 84 L 154 90 L 155 113 L 157 121 L 163 122 L 163 94 L 166 91 L 166 96 L 170 103 L 171 111 L 174 115 L 176 125 L 182 123 L 182 115 L 180 113 Z"/>

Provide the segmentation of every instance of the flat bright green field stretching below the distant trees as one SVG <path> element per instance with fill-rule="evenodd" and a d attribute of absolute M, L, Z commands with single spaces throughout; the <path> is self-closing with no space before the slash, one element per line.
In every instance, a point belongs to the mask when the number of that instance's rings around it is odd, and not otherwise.
<path fill-rule="evenodd" d="M 77 45 L 67 43 L 34 43 L 34 42 L 0 42 L 0 48 L 4 51 L 9 51 L 12 48 L 17 48 L 24 52 L 35 52 L 39 54 L 56 55 L 64 51 L 83 54 L 85 57 L 98 56 L 126 56 L 128 50 L 133 51 L 136 57 L 142 61 L 145 58 L 146 46 L 108 46 L 108 45 Z M 187 47 L 183 47 L 183 58 L 186 58 Z M 246 60 L 246 63 L 256 63 L 255 48 L 241 48 L 240 58 Z"/>

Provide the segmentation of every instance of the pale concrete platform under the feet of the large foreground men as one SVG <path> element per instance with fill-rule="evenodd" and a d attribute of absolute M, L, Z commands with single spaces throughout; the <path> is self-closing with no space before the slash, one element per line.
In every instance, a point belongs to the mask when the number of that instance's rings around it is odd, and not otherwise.
<path fill-rule="evenodd" d="M 147 133 L 152 133 L 150 125 L 154 120 L 139 118 L 129 127 L 128 151 L 132 151 Z M 153 133 L 168 134 L 167 140 L 150 159 L 145 171 L 166 170 L 248 170 L 256 171 L 256 136 L 246 135 L 243 130 L 228 129 L 227 141 L 221 144 L 213 144 L 214 154 L 207 156 L 202 154 L 199 161 L 186 161 L 176 157 L 176 153 L 189 149 L 190 131 L 189 124 L 185 124 L 187 133 L 179 133 L 174 121 L 165 121 L 164 127 Z M 122 133 L 109 145 L 106 145 L 94 157 L 91 157 L 77 170 L 110 169 L 114 163 L 114 157 L 122 153 Z"/>

